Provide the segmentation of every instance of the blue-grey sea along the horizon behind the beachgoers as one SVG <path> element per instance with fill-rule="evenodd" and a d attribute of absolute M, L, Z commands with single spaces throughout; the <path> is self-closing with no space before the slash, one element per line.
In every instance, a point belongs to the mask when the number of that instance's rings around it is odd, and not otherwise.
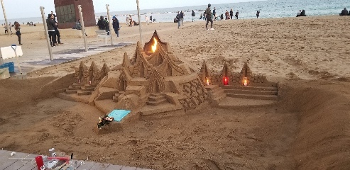
<path fill-rule="evenodd" d="M 136 4 L 135 4 L 136 6 Z M 230 11 L 231 8 L 234 12 L 239 11 L 239 19 L 256 18 L 256 11 L 261 11 L 259 18 L 282 18 L 282 17 L 295 17 L 297 11 L 305 9 L 308 16 L 330 16 L 339 15 L 343 8 L 350 9 L 349 0 L 268 0 L 268 1 L 251 1 L 251 2 L 239 2 L 231 4 L 212 4 L 212 8 L 216 8 L 217 14 L 225 13 L 226 10 Z M 142 6 L 141 6 L 142 8 Z M 192 21 L 191 11 L 196 13 L 195 18 L 198 20 L 200 13 L 203 13 L 207 8 L 207 5 L 203 6 L 185 6 L 176 8 L 158 8 L 158 9 L 145 9 L 141 10 L 141 21 L 145 21 L 145 15 L 155 18 L 155 22 L 173 22 L 177 11 L 185 11 L 185 21 Z M 137 11 L 111 11 L 112 16 L 117 15 L 119 22 L 126 22 L 126 15 L 132 15 L 134 21 L 138 21 Z M 106 16 L 104 13 L 96 13 L 96 18 L 99 16 Z M 13 23 L 18 21 L 19 23 L 43 23 L 40 16 L 33 18 L 16 18 L 8 19 Z M 0 20 L 0 23 L 5 23 L 4 20 Z"/>

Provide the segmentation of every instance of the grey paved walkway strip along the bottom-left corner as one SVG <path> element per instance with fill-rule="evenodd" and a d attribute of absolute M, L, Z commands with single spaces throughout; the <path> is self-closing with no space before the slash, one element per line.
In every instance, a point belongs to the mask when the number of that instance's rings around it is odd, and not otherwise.
<path fill-rule="evenodd" d="M 35 157 L 38 154 L 25 154 L 16 152 L 11 156 L 12 151 L 0 150 L 0 170 L 36 170 Z M 102 164 L 98 162 L 84 162 L 73 160 L 73 166 L 77 170 L 151 170 L 131 166 L 113 164 Z"/>

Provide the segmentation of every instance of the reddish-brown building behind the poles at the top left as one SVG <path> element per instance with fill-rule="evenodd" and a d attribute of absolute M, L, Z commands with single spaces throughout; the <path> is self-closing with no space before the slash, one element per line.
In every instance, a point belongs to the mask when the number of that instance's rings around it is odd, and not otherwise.
<path fill-rule="evenodd" d="M 57 21 L 60 28 L 73 28 L 80 19 L 78 5 L 82 6 L 84 26 L 96 26 L 92 0 L 54 0 Z"/>

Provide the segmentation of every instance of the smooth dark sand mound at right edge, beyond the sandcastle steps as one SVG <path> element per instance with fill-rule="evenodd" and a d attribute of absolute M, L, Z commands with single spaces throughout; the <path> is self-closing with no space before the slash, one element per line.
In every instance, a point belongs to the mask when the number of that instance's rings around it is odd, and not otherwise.
<path fill-rule="evenodd" d="M 282 92 L 285 108 L 298 120 L 290 149 L 295 169 L 350 169 L 349 88 L 321 84 L 305 81 L 301 88 Z"/>

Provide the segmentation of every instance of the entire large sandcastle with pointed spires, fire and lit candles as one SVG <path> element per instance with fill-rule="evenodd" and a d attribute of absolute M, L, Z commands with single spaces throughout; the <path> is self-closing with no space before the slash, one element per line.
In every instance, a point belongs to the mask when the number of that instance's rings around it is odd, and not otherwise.
<path fill-rule="evenodd" d="M 58 96 L 92 104 L 104 113 L 125 109 L 132 111 L 131 115 L 146 116 L 186 112 L 204 103 L 219 106 L 232 91 L 239 91 L 236 87 L 260 86 L 263 88 L 258 89 L 258 93 L 264 94 L 267 88 L 275 97 L 273 100 L 277 98 L 277 84 L 270 83 L 262 75 L 252 74 L 247 63 L 240 73 L 231 72 L 227 63 L 222 72 L 213 72 L 205 62 L 200 72 L 195 72 L 174 55 L 170 45 L 161 41 L 156 31 L 143 47 L 137 43 L 131 59 L 125 53 L 123 63 L 111 71 L 106 64 L 99 69 L 92 62 L 88 69 L 80 63 L 74 81 Z"/>

